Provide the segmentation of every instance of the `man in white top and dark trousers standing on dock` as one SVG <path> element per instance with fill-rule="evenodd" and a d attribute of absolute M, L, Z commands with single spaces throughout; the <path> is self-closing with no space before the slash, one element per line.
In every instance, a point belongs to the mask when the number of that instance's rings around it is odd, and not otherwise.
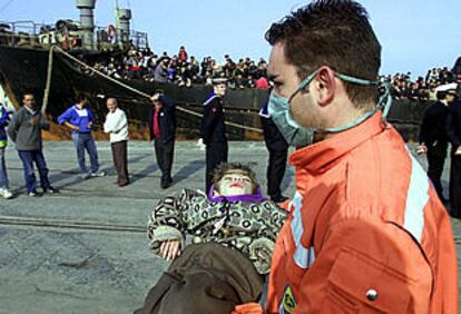
<path fill-rule="evenodd" d="M 104 131 L 110 135 L 112 159 L 118 175 L 115 184 L 121 187 L 129 184 L 127 167 L 128 120 L 124 110 L 118 108 L 117 99 L 108 98 L 106 105 L 109 112 L 104 124 Z"/>

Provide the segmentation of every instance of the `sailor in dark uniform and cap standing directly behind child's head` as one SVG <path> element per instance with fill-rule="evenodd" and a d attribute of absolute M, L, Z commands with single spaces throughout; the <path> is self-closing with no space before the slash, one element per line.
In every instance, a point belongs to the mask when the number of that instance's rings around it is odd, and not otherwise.
<path fill-rule="evenodd" d="M 205 190 L 208 192 L 213 173 L 220 163 L 227 163 L 227 137 L 223 109 L 223 97 L 226 95 L 226 79 L 213 80 L 213 92 L 204 102 L 204 116 L 200 126 L 199 144 L 206 146 Z"/>

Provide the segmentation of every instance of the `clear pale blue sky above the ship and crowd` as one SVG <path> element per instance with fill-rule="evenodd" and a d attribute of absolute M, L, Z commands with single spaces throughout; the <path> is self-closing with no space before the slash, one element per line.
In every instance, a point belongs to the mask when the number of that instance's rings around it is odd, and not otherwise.
<path fill-rule="evenodd" d="M 308 1 L 300 0 L 119 0 L 133 13 L 131 27 L 149 35 L 156 53 L 175 55 L 185 46 L 189 56 L 212 56 L 219 62 L 268 59 L 264 33 L 269 26 Z M 461 56 L 461 0 L 360 0 L 383 47 L 381 73 L 424 76 L 433 67 L 452 68 Z M 59 4 L 58 4 L 59 3 Z M 53 23 L 78 20 L 72 0 L 0 0 L 0 20 Z M 97 0 L 98 26 L 115 23 L 115 1 Z"/>

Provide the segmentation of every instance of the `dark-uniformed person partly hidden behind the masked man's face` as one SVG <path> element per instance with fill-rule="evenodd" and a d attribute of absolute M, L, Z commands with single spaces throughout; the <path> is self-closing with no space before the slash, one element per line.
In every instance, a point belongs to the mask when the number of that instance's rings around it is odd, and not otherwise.
<path fill-rule="evenodd" d="M 264 133 L 264 141 L 268 150 L 267 164 L 267 194 L 275 203 L 287 199 L 282 195 L 281 184 L 285 175 L 286 158 L 288 156 L 288 144 L 279 133 L 267 111 L 267 104 L 259 110 L 261 125 Z"/>

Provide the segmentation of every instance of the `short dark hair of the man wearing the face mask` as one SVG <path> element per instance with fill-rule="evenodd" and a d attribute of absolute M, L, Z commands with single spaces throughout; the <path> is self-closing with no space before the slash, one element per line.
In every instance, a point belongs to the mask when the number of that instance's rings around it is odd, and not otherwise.
<path fill-rule="evenodd" d="M 297 68 L 300 78 L 327 66 L 340 73 L 377 79 L 381 46 L 366 10 L 355 1 L 313 1 L 273 23 L 265 38 L 271 45 L 285 45 L 285 58 Z M 376 87 L 344 85 L 357 108 L 375 101 Z"/>

